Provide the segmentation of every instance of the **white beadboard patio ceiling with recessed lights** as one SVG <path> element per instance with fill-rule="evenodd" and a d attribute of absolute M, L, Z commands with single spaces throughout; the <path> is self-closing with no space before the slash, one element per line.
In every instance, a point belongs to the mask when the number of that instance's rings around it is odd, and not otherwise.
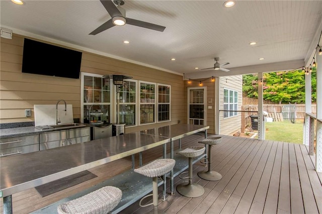
<path fill-rule="evenodd" d="M 109 1 L 109 0 L 107 0 Z M 92 31 L 111 19 L 99 0 L 0 1 L 1 27 L 13 33 L 178 73 L 187 78 L 308 66 L 322 30 L 322 1 L 125 1 L 133 25 Z M 129 41 L 124 44 L 123 41 Z M 250 45 L 251 42 L 257 42 Z M 229 72 L 201 70 L 214 58 Z M 176 60 L 172 61 L 171 59 Z M 259 60 L 259 58 L 264 58 Z M 198 69 L 195 69 L 198 68 Z"/>

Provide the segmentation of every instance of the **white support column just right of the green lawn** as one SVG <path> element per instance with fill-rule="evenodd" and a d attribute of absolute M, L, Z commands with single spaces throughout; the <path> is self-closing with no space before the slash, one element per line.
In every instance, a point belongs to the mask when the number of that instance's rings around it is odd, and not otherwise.
<path fill-rule="evenodd" d="M 305 113 L 312 113 L 312 83 L 311 83 L 311 73 L 305 75 Z M 304 126 L 303 126 L 303 144 L 305 146 L 309 146 L 310 143 L 310 121 L 312 120 L 311 117 L 305 115 L 304 119 Z M 313 127 L 314 129 L 314 127 Z"/>

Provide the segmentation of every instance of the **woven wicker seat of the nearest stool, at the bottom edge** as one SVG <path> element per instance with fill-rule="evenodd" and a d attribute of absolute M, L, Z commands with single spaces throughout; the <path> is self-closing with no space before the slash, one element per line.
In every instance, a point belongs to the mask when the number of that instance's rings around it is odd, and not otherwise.
<path fill-rule="evenodd" d="M 59 214 L 66 213 L 108 213 L 122 198 L 122 191 L 114 186 L 105 186 L 82 197 L 59 204 Z"/>

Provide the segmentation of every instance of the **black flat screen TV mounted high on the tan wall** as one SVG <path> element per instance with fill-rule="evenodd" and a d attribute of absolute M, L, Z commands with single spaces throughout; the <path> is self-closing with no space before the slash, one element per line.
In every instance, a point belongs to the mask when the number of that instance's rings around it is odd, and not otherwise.
<path fill-rule="evenodd" d="M 82 52 L 26 39 L 22 72 L 79 79 Z"/>

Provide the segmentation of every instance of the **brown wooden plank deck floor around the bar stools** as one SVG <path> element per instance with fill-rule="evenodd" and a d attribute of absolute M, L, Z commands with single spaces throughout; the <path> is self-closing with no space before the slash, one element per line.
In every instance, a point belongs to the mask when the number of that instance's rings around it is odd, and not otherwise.
<path fill-rule="evenodd" d="M 182 148 L 200 146 L 198 141 L 203 138 L 202 135 L 185 137 Z M 161 155 L 160 147 L 147 150 L 143 152 L 143 164 Z M 315 172 L 313 158 L 304 145 L 223 136 L 222 143 L 212 147 L 212 167 L 222 175 L 222 179 L 200 179 L 197 172 L 206 168 L 204 164 L 196 163 L 193 181 L 204 186 L 205 193 L 197 198 L 188 198 L 175 191 L 174 195 L 169 194 L 167 200 L 162 201 L 160 187 L 158 209 L 184 214 L 322 213 L 322 175 Z M 130 167 L 131 159 L 124 158 L 93 168 L 90 171 L 98 175 L 97 178 L 43 198 L 34 188 L 14 194 L 14 213 L 29 213 Z M 111 171 L 114 173 L 106 173 Z M 179 177 L 175 178 L 175 186 L 181 182 Z M 170 182 L 167 184 L 167 192 L 170 192 Z M 121 213 L 145 213 L 151 209 L 151 206 L 140 207 L 137 201 Z"/>

